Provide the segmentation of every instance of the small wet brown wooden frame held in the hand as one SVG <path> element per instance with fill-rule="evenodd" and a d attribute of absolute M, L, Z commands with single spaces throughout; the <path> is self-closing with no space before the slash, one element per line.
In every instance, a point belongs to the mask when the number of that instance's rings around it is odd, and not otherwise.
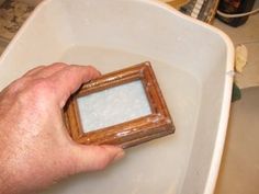
<path fill-rule="evenodd" d="M 140 80 L 143 83 L 151 113 L 113 126 L 83 133 L 77 100 L 136 80 Z M 117 145 L 127 148 L 174 132 L 172 119 L 150 62 L 114 71 L 85 83 L 78 92 L 71 95 L 64 113 L 72 139 L 86 145 Z"/>

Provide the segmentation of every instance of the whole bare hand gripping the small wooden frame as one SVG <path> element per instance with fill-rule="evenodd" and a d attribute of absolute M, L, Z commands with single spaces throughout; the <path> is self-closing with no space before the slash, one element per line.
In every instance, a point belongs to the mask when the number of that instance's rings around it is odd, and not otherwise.
<path fill-rule="evenodd" d="M 61 109 L 93 67 L 37 67 L 0 93 L 0 193 L 31 193 L 78 172 L 100 170 L 122 158 L 115 146 L 71 140 Z"/>

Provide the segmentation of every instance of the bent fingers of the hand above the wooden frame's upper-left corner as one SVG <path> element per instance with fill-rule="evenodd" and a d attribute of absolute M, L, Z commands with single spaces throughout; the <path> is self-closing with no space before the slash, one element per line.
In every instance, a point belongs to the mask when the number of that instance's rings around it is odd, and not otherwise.
<path fill-rule="evenodd" d="M 67 65 L 56 62 L 50 66 L 38 66 L 27 71 L 24 78 L 42 79 L 45 78 L 52 83 L 59 107 L 63 107 L 67 99 L 78 90 L 78 88 L 101 73 L 91 66 Z"/>

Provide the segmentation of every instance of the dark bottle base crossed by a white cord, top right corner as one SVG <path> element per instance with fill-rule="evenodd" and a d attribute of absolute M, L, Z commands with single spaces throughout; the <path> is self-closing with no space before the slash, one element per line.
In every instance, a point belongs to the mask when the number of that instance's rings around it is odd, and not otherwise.
<path fill-rule="evenodd" d="M 218 10 L 223 13 L 237 14 L 251 11 L 255 0 L 221 0 Z M 234 27 L 240 26 L 248 20 L 249 15 L 240 18 L 224 18 L 216 15 L 217 19 Z"/>

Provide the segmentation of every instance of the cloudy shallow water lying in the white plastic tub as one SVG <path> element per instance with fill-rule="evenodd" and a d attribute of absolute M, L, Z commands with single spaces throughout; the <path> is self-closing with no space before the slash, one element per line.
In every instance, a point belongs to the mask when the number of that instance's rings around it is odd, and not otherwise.
<path fill-rule="evenodd" d="M 176 134 L 126 150 L 104 171 L 69 178 L 44 194 L 177 194 L 188 169 L 201 100 L 199 80 L 176 64 L 110 48 L 74 46 L 60 61 L 110 72 L 149 60 L 176 125 Z"/>

